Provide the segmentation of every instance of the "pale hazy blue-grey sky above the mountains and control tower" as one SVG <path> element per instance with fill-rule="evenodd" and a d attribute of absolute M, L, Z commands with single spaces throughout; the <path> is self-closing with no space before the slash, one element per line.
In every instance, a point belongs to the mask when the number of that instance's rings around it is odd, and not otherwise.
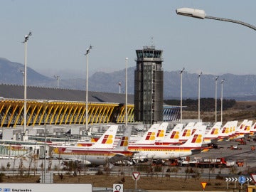
<path fill-rule="evenodd" d="M 236 23 L 176 15 L 176 9 L 204 9 L 208 16 L 256 26 L 256 1 L 236 0 L 1 0 L 0 57 L 65 76 L 135 66 L 135 50 L 153 43 L 164 50 L 164 70 L 256 75 L 256 31 Z M 153 37 L 153 41 L 151 38 Z M 73 77 L 75 78 L 75 77 Z"/>

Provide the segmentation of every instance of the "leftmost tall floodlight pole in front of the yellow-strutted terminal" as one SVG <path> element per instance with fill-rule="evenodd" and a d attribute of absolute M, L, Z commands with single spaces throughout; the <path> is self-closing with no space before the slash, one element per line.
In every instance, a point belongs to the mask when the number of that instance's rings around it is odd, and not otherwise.
<path fill-rule="evenodd" d="M 23 134 L 25 136 L 25 132 L 26 132 L 26 74 L 27 74 L 27 68 L 26 68 L 26 65 L 27 65 L 27 42 L 28 42 L 28 38 L 29 36 L 32 36 L 32 33 L 31 31 L 28 33 L 28 35 L 25 36 L 25 40 L 23 41 L 24 45 L 25 45 L 25 60 L 24 60 L 24 111 L 23 111 L 23 114 L 24 114 L 24 122 L 23 122 Z M 25 137 L 23 137 L 24 139 Z"/>

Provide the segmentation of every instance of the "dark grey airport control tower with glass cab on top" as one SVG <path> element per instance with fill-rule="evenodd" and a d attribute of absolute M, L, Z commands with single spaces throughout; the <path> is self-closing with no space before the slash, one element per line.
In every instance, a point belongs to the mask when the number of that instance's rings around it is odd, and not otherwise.
<path fill-rule="evenodd" d="M 134 120 L 144 124 L 163 121 L 164 72 L 162 50 L 144 46 L 136 50 L 134 71 Z"/>

